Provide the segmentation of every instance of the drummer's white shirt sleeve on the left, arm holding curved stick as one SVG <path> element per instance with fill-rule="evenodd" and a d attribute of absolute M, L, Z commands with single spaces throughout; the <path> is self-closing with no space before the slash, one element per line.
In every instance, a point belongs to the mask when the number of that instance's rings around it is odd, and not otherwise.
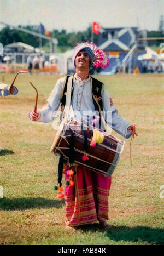
<path fill-rule="evenodd" d="M 54 89 L 46 101 L 46 104 L 42 107 L 42 109 L 38 109 L 40 115 L 37 121 L 48 123 L 54 120 L 60 105 L 63 81 L 64 78 L 58 79 Z"/>

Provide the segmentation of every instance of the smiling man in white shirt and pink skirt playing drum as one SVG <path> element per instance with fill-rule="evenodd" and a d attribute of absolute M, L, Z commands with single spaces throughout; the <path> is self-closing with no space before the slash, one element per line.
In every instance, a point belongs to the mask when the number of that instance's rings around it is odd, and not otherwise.
<path fill-rule="evenodd" d="M 72 59 L 76 73 L 73 77 L 71 98 L 73 111 L 79 113 L 85 122 L 90 118 L 90 115 L 86 117 L 84 112 L 91 111 L 91 116 L 93 117 L 97 106 L 101 106 L 101 110 L 112 113 L 112 128 L 116 132 L 125 138 L 129 138 L 131 135 L 134 137 L 136 132 L 133 126 L 118 115 L 107 89 L 102 86 L 101 82 L 89 76 L 89 67 L 92 65 L 93 58 L 94 54 L 91 48 L 85 43 L 78 45 L 74 50 Z M 60 101 L 65 106 L 65 100 L 63 100 L 65 97 L 65 93 L 63 93 L 65 83 L 66 78 L 60 78 L 57 81 L 47 104 L 38 110 L 38 113 L 31 111 L 31 120 L 50 122 L 54 119 Z M 98 88 L 97 85 L 102 87 Z M 102 96 L 99 96 L 99 94 L 94 95 L 94 93 L 97 93 L 96 90 L 99 93 L 101 91 Z M 66 181 L 68 178 L 68 175 L 65 174 Z M 103 174 L 76 166 L 76 174 L 73 179 L 75 185 L 66 185 L 65 188 L 67 228 L 94 223 L 97 220 L 102 227 L 108 227 L 108 196 L 111 177 L 104 177 Z"/>

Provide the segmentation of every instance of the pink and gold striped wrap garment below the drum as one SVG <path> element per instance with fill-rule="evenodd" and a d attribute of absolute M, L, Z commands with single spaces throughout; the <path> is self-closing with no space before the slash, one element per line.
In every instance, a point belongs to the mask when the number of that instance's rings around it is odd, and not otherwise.
<path fill-rule="evenodd" d="M 74 186 L 66 185 L 66 224 L 79 226 L 108 220 L 108 196 L 111 176 L 75 166 Z M 69 176 L 65 174 L 65 180 Z"/>

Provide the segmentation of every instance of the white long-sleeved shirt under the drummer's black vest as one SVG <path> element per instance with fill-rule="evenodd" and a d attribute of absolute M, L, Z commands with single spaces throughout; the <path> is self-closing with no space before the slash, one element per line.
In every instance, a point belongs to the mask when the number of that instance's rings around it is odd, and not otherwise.
<path fill-rule="evenodd" d="M 73 96 L 71 100 L 71 106 L 73 112 L 76 114 L 77 120 L 86 121 L 86 115 L 90 117 L 97 116 L 95 113 L 95 106 L 93 104 L 92 99 L 92 91 L 91 91 L 91 78 L 81 80 L 77 75 L 75 77 L 74 82 L 74 90 Z M 40 116 L 38 118 L 39 122 L 48 123 L 54 120 L 54 117 L 57 113 L 58 107 L 60 106 L 61 94 L 63 82 L 65 81 L 65 77 L 58 79 L 56 86 L 52 90 L 47 103 L 42 109 L 38 109 Z M 131 133 L 127 130 L 127 128 L 131 125 L 126 120 L 124 120 L 119 114 L 116 107 L 112 103 L 112 99 L 110 98 L 108 91 L 105 87 L 103 87 L 102 93 L 102 101 L 103 101 L 103 111 L 104 111 L 104 119 L 107 121 L 108 125 L 112 127 L 116 132 L 124 136 L 125 138 L 129 138 Z M 84 112 L 83 112 L 84 111 Z M 89 113 L 86 111 L 89 111 Z M 107 113 L 109 112 L 109 118 L 107 119 Z"/>

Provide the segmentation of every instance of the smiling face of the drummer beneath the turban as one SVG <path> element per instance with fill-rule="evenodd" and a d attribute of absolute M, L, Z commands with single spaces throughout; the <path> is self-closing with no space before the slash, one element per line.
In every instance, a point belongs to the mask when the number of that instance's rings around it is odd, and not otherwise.
<path fill-rule="evenodd" d="M 85 52 L 85 50 L 81 50 L 76 56 L 75 59 L 75 67 L 82 69 L 89 69 L 90 58 L 89 55 Z"/>

